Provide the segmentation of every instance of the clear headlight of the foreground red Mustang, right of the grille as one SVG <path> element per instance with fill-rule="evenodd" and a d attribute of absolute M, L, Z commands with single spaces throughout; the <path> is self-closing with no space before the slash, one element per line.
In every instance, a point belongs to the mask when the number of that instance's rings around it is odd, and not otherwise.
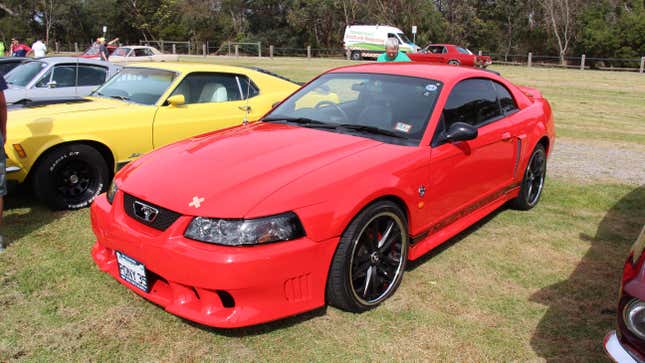
<path fill-rule="evenodd" d="M 304 235 L 298 216 L 292 212 L 257 219 L 195 217 L 184 233 L 186 238 L 226 246 L 288 241 Z"/>

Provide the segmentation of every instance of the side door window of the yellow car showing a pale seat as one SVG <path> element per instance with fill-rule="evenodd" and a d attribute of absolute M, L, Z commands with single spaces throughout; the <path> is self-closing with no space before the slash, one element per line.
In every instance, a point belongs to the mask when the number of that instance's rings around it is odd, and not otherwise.
<path fill-rule="evenodd" d="M 184 95 L 186 104 L 242 99 L 236 75 L 225 73 L 191 73 L 175 88 L 174 95 Z"/>

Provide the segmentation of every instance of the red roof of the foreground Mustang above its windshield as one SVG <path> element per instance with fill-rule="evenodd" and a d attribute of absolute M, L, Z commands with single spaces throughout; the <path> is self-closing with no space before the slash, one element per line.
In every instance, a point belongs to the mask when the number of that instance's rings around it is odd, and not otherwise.
<path fill-rule="evenodd" d="M 495 78 L 493 72 L 477 68 L 455 67 L 453 65 L 428 64 L 422 62 L 368 63 L 339 67 L 329 71 L 329 73 L 341 72 L 381 73 L 408 77 L 421 77 L 444 83 L 466 77 Z"/>

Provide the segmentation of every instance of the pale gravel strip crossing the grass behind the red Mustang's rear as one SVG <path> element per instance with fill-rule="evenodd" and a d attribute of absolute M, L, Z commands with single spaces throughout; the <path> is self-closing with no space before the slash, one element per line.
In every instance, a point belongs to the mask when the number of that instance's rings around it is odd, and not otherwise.
<path fill-rule="evenodd" d="M 549 176 L 578 182 L 645 184 L 645 147 L 556 139 Z"/>

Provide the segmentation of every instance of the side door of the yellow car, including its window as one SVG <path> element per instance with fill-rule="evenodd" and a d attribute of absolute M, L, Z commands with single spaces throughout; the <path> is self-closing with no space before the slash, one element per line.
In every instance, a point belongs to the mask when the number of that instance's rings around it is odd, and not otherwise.
<path fill-rule="evenodd" d="M 155 115 L 154 147 L 240 125 L 245 117 L 257 119 L 261 116 L 261 110 L 254 107 L 258 92 L 246 76 L 210 72 L 188 74 L 171 94 L 183 95 L 185 104 L 161 106 Z"/>

